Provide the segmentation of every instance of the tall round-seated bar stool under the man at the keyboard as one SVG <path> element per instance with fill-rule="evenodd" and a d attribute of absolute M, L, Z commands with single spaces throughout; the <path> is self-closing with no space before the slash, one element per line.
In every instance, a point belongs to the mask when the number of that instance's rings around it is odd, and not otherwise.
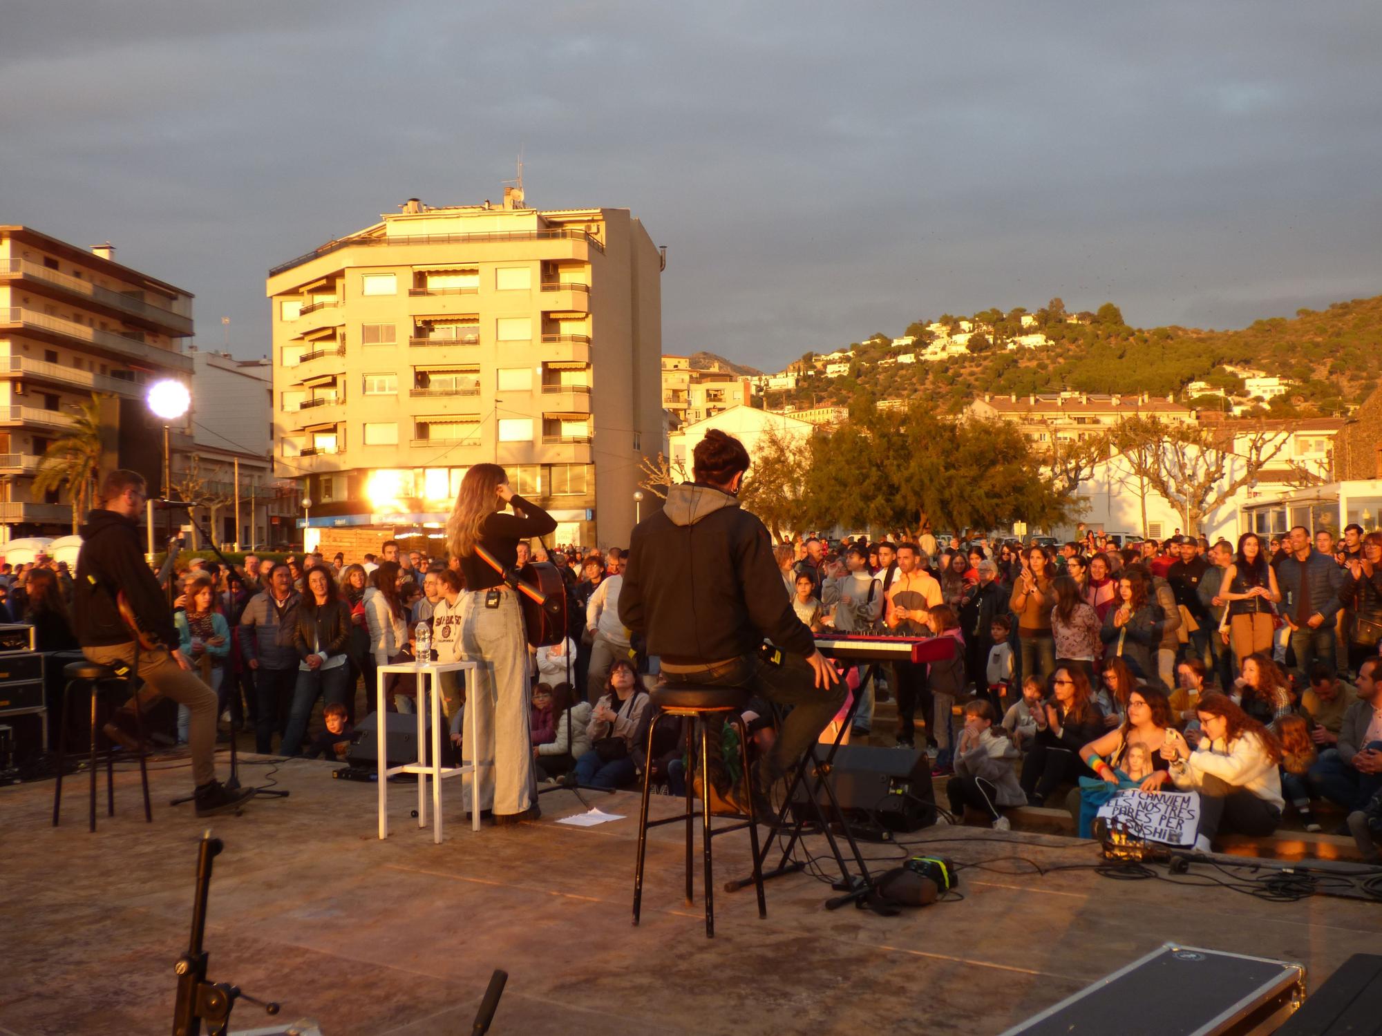
<path fill-rule="evenodd" d="M 712 714 L 723 714 L 726 722 L 734 724 L 739 731 L 739 762 L 744 767 L 744 780 L 748 785 L 752 782 L 752 774 L 749 771 L 749 746 L 748 746 L 748 731 L 744 725 L 742 713 L 748 707 L 749 695 L 746 691 L 732 687 L 697 687 L 692 684 L 681 684 L 672 687 L 662 687 L 650 695 L 652 709 L 652 721 L 648 724 L 648 751 L 643 765 L 643 809 L 638 814 L 638 863 L 634 869 L 633 876 L 633 923 L 638 923 L 638 912 L 643 905 L 643 865 L 647 856 L 648 848 L 648 829 L 658 827 L 663 823 L 676 823 L 677 821 L 684 821 L 687 826 L 687 855 L 685 855 L 685 880 L 687 880 L 687 906 L 694 901 L 692 894 L 692 876 L 691 876 L 691 854 L 694 851 L 694 837 L 695 837 L 695 816 L 697 812 L 692 807 L 692 780 L 691 772 L 687 772 L 687 792 L 685 792 L 685 811 L 681 816 L 666 816 L 661 821 L 648 819 L 648 798 L 651 796 L 651 772 L 652 772 L 652 728 L 656 725 L 658 714 L 665 716 L 680 716 L 681 717 L 681 731 L 685 735 L 687 758 L 695 760 L 697 739 L 701 742 L 701 761 L 694 769 L 701 776 L 701 848 L 705 855 L 705 935 L 706 938 L 714 938 L 714 879 L 712 876 L 713 863 L 710 854 L 710 840 L 717 834 L 728 834 L 730 832 L 749 829 L 749 843 L 753 847 L 753 887 L 759 894 L 759 917 L 768 916 L 767 902 L 763 898 L 763 870 L 759 865 L 759 829 L 757 821 L 753 816 L 753 796 L 749 796 L 748 809 L 749 818 L 741 823 L 731 823 L 724 827 L 713 829 L 710 827 L 710 782 L 706 776 L 709 771 L 709 749 L 706 746 L 706 717 Z"/>

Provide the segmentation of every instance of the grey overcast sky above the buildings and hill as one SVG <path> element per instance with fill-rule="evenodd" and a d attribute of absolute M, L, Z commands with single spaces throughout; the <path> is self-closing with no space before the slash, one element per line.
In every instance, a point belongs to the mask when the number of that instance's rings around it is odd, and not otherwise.
<path fill-rule="evenodd" d="M 1365 3 L 6 0 L 0 222 L 268 348 L 268 268 L 409 196 L 629 207 L 666 352 L 990 305 L 1242 326 L 1382 293 Z"/>

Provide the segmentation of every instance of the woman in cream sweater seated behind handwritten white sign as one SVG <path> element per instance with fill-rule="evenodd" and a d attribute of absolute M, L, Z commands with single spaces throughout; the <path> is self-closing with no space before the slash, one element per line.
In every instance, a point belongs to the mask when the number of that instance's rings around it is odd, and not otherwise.
<path fill-rule="evenodd" d="M 1195 851 L 1213 852 L 1220 834 L 1265 838 L 1281 821 L 1281 742 L 1226 695 L 1205 695 L 1195 710 L 1204 738 L 1193 750 L 1168 738 L 1162 758 L 1183 792 L 1200 793 Z"/>

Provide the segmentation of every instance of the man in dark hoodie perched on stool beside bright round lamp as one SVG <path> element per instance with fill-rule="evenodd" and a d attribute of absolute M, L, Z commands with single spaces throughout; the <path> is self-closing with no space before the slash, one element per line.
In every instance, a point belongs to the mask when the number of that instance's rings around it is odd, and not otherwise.
<path fill-rule="evenodd" d="M 228 790 L 216 779 L 216 692 L 192 671 L 178 651 L 173 611 L 140 548 L 140 514 L 148 496 L 144 477 L 112 471 L 101 486 L 104 507 L 93 508 L 82 529 L 76 597 L 72 613 L 82 653 L 91 662 L 129 673 L 138 658 L 140 707 L 170 698 L 191 711 L 188 745 L 192 750 L 196 815 L 232 811 L 254 794 Z M 129 616 L 129 617 L 126 617 Z M 134 747 L 122 720 L 133 714 L 133 700 L 105 732 Z"/>

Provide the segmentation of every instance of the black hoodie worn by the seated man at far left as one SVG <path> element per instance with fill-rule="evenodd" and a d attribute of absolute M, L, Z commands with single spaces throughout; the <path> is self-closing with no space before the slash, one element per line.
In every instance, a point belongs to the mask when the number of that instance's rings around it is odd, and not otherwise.
<path fill-rule="evenodd" d="M 178 645 L 173 611 L 158 580 L 144 564 L 140 524 L 123 514 L 95 508 L 82 528 L 82 553 L 72 605 L 77 641 L 83 648 L 127 644 L 134 640 L 120 619 L 115 595 L 123 591 L 140 627 L 171 649 Z"/>

